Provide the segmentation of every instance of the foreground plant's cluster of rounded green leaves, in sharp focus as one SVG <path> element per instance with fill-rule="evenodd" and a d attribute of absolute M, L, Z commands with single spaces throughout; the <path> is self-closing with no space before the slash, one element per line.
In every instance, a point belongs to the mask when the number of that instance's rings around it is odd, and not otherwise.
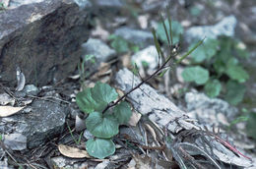
<path fill-rule="evenodd" d="M 94 87 L 88 87 L 76 96 L 79 108 L 89 114 L 86 126 L 96 138 L 87 141 L 86 148 L 89 154 L 96 158 L 104 158 L 115 152 L 111 139 L 118 134 L 119 125 L 126 124 L 132 115 L 131 107 L 126 101 L 121 101 L 112 109 L 102 112 L 117 97 L 114 88 L 102 83 L 96 83 Z"/>

